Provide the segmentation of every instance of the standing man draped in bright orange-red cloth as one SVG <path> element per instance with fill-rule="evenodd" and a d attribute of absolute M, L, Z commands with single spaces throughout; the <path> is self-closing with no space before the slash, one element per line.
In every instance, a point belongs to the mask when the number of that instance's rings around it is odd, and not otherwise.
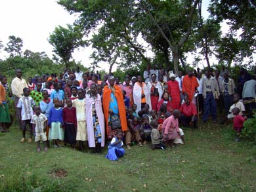
<path fill-rule="evenodd" d="M 185 93 L 188 94 L 188 99 L 190 102 L 193 102 L 196 104 L 196 100 L 194 99 L 194 94 L 195 92 L 198 92 L 197 87 L 198 87 L 198 81 L 196 80 L 196 77 L 194 77 L 192 71 L 188 71 L 188 75 L 186 75 L 183 78 L 182 82 L 182 94 L 184 95 Z"/>

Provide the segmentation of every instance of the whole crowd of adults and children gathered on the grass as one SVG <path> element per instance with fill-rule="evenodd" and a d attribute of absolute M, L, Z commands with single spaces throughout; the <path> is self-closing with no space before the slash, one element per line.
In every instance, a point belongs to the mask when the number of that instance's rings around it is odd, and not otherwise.
<path fill-rule="evenodd" d="M 179 125 L 197 128 L 199 115 L 203 123 L 217 123 L 217 106 L 224 109 L 224 117 L 234 119 L 234 130 L 239 134 L 246 115 L 255 109 L 255 75 L 242 68 L 238 82 L 230 78 L 224 68 L 204 70 L 198 68 L 186 75 L 179 71 L 166 71 L 147 66 L 143 76 L 127 74 L 123 83 L 113 74 L 84 73 L 77 67 L 66 73 L 44 74 L 22 79 L 22 70 L 16 69 L 11 88 L 7 77 L 1 75 L 0 128 L 8 132 L 9 100 L 14 100 L 16 119 L 22 139 L 32 143 L 34 136 L 37 151 L 43 141 L 47 151 L 49 141 L 53 147 L 65 145 L 84 151 L 88 146 L 100 152 L 106 142 L 110 160 L 117 160 L 127 149 L 151 142 L 152 149 L 165 149 L 184 144 L 184 132 Z M 245 111 L 247 114 L 245 114 Z"/>

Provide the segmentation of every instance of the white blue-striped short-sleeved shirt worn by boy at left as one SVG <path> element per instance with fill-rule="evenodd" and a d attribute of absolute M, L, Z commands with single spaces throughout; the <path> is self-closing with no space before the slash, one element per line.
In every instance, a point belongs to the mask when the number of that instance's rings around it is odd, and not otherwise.
<path fill-rule="evenodd" d="M 21 110 L 22 121 L 32 119 L 33 117 L 32 106 L 35 106 L 35 102 L 30 96 L 27 96 L 27 97 L 22 96 L 22 98 L 18 100 L 17 107 L 22 109 Z"/>

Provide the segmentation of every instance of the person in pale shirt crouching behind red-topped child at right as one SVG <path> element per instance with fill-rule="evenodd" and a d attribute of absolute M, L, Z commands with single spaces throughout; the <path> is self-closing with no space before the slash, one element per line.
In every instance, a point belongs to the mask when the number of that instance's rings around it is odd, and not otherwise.
<path fill-rule="evenodd" d="M 234 101 L 234 104 L 230 106 L 229 114 L 226 117 L 224 117 L 224 119 L 221 121 L 221 125 L 223 125 L 226 122 L 226 120 L 234 118 L 234 115 L 232 113 L 232 109 L 234 109 L 234 107 L 238 107 L 239 115 L 242 115 L 243 117 L 245 117 L 245 107 L 244 107 L 244 104 L 240 102 L 239 94 L 234 94 L 233 101 Z"/>

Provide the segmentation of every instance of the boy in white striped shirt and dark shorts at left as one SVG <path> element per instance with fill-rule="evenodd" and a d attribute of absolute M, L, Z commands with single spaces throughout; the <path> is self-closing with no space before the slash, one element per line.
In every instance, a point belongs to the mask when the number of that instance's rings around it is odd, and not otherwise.
<path fill-rule="evenodd" d="M 23 96 L 18 100 L 18 104 L 16 106 L 19 110 L 18 115 L 20 115 L 20 119 L 22 121 L 22 139 L 20 140 L 20 142 L 22 143 L 26 141 L 27 125 L 30 127 L 30 138 L 28 139 L 28 142 L 32 143 L 32 124 L 30 123 L 30 121 L 33 116 L 33 106 L 35 106 L 35 102 L 30 97 L 30 90 L 25 87 L 23 89 Z"/>

